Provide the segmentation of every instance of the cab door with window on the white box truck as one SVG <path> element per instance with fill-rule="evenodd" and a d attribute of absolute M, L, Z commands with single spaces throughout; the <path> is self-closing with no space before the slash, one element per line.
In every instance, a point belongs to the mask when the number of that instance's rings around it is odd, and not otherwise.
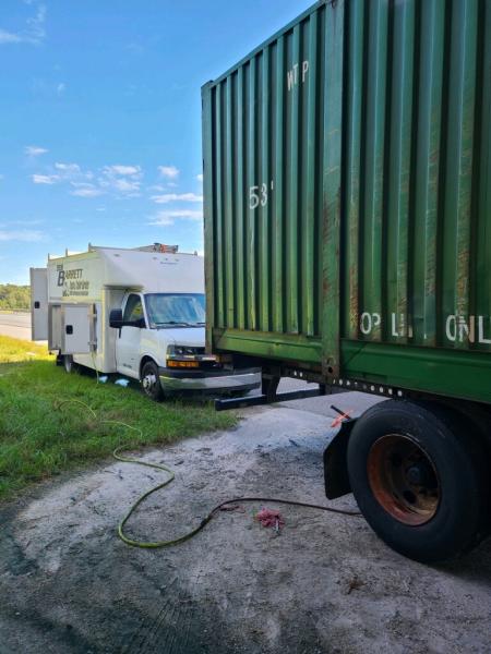
<path fill-rule="evenodd" d="M 137 323 L 145 319 L 143 300 L 139 293 L 130 293 L 123 308 L 123 322 Z M 116 368 L 118 373 L 140 378 L 140 351 L 142 327 L 124 325 L 116 339 Z"/>

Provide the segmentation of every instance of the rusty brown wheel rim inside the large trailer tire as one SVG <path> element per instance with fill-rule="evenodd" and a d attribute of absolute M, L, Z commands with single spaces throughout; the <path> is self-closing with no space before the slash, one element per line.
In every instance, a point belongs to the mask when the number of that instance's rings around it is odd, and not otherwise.
<path fill-rule="evenodd" d="M 367 470 L 373 495 L 393 518 L 417 526 L 435 516 L 441 495 L 436 469 L 412 438 L 388 434 L 375 440 Z"/>

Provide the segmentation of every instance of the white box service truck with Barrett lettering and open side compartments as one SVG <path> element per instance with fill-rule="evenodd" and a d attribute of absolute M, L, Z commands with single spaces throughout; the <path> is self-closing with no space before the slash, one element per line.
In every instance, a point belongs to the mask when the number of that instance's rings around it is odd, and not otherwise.
<path fill-rule="evenodd" d="M 182 391 L 242 395 L 258 370 L 205 353 L 203 257 L 155 244 L 49 256 L 31 269 L 33 340 L 76 366 L 140 380 L 155 400 Z"/>

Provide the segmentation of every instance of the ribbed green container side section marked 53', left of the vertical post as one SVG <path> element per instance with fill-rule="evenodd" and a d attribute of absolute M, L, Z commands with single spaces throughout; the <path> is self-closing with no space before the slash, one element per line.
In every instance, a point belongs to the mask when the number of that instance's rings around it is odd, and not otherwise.
<path fill-rule="evenodd" d="M 217 327 L 321 334 L 325 35 L 321 4 L 207 87 Z"/>

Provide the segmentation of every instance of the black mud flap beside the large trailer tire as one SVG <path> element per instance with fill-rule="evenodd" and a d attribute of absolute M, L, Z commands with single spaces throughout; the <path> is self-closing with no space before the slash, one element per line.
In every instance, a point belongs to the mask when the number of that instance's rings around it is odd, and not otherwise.
<path fill-rule="evenodd" d="M 346 453 L 349 435 L 356 422 L 356 417 L 344 420 L 339 432 L 324 450 L 324 485 L 328 499 L 351 493 Z"/>

